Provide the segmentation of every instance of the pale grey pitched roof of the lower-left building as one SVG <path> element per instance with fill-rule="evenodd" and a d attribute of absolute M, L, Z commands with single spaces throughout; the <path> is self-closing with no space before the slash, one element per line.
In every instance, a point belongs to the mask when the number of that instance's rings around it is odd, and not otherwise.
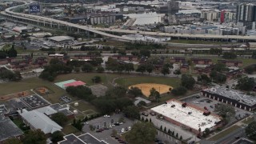
<path fill-rule="evenodd" d="M 35 129 L 42 130 L 45 134 L 53 134 L 55 131 L 62 130 L 62 126 L 59 126 L 56 122 L 47 117 L 46 114 L 40 113 L 37 110 L 27 111 L 24 109 L 22 113 L 18 110 L 18 113 L 26 122 L 29 122 L 31 126 Z"/>

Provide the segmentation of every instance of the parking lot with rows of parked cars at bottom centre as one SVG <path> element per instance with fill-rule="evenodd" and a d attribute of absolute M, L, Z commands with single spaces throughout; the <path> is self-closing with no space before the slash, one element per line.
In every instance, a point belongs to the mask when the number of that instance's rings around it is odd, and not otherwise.
<path fill-rule="evenodd" d="M 110 127 L 110 125 L 118 122 L 119 118 L 124 118 L 124 122 L 119 126 L 111 126 Z M 93 120 L 86 122 L 85 126 L 83 126 L 83 128 L 82 128 L 82 131 L 89 132 L 90 134 L 93 134 L 96 138 L 98 138 L 100 140 L 104 140 L 108 143 L 111 143 L 111 144 L 116 143 L 117 144 L 117 143 L 119 143 L 118 140 L 111 137 L 113 130 L 117 130 L 118 134 L 124 134 L 127 131 L 129 131 L 128 127 L 133 126 L 133 124 L 134 124 L 134 121 L 131 121 L 130 119 L 123 117 L 122 114 L 114 114 L 114 115 L 111 115 L 110 118 L 100 117 L 100 118 L 95 118 Z M 96 130 L 91 131 L 90 125 L 94 126 L 94 128 L 96 128 Z M 98 128 L 103 129 L 104 127 L 109 127 L 109 129 L 103 130 L 102 132 L 96 132 L 98 130 Z M 126 128 L 127 128 L 127 131 L 124 130 L 124 132 L 122 132 L 122 129 L 126 129 Z"/>

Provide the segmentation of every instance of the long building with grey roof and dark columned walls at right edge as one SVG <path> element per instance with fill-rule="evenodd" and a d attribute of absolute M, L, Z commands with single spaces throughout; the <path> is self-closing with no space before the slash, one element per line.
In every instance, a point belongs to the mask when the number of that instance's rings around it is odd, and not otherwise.
<path fill-rule="evenodd" d="M 224 102 L 236 106 L 243 110 L 256 110 L 256 98 L 243 94 L 238 90 L 230 90 L 220 86 L 202 90 L 202 96 L 213 98 L 219 102 Z"/>

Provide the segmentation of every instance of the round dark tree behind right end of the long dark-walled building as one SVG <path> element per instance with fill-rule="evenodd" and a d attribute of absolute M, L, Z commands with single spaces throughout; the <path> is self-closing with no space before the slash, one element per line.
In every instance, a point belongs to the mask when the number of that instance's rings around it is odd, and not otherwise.
<path fill-rule="evenodd" d="M 246 91 L 250 91 L 254 88 L 255 86 L 255 81 L 254 78 L 248 78 L 248 77 L 244 77 L 244 78 L 239 78 L 238 79 L 238 89 L 239 90 L 246 90 Z"/>

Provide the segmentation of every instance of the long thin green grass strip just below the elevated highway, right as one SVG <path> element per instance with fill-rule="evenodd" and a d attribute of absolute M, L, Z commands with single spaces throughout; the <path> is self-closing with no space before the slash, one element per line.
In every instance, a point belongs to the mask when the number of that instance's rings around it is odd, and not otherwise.
<path fill-rule="evenodd" d="M 174 43 L 186 43 L 186 44 L 206 44 L 206 45 L 225 45 L 231 44 L 231 42 L 213 42 L 213 41 L 199 41 L 199 40 L 186 40 L 186 39 L 174 39 L 168 42 Z"/>

